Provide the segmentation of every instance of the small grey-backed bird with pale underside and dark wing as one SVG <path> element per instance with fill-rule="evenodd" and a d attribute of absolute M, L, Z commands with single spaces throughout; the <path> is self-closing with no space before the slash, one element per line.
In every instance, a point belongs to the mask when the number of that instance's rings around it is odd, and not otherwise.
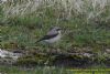
<path fill-rule="evenodd" d="M 52 28 L 46 35 L 44 35 L 42 39 L 40 39 L 37 42 L 44 41 L 46 43 L 55 43 L 62 38 L 62 29 L 58 27 Z"/>

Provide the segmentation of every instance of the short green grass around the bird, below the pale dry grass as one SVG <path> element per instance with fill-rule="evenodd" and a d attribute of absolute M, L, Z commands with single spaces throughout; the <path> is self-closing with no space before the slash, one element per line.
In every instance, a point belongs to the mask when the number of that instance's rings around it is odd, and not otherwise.
<path fill-rule="evenodd" d="M 26 17 L 25 19 L 30 20 L 29 17 Z M 45 35 L 50 28 L 53 27 L 53 24 L 51 24 L 53 21 L 50 21 L 50 19 L 44 19 L 42 21 L 43 24 L 41 25 L 38 24 L 41 21 L 33 22 L 33 20 L 36 20 L 35 18 L 33 18 L 32 21 L 28 21 L 25 19 L 14 19 L 13 22 L 10 22 L 10 24 L 0 27 L 2 36 L 1 47 L 8 47 L 4 44 L 10 44 L 11 42 L 18 44 L 18 47 L 20 47 L 21 45 L 29 47 L 35 46 L 37 45 L 35 44 L 35 41 Z M 107 30 L 107 28 L 101 27 L 97 29 L 91 23 L 84 23 L 82 19 L 79 20 L 80 23 L 82 22 L 82 24 L 80 24 L 77 20 L 78 19 L 76 19 L 76 21 L 61 21 L 59 24 L 55 24 L 66 29 L 67 32 L 66 34 L 64 34 L 59 44 L 57 44 L 58 47 L 62 47 L 63 50 L 69 50 L 73 49 L 73 46 L 100 46 L 99 49 L 101 49 L 101 46 L 109 47 L 109 29 Z M 42 44 L 38 44 L 38 46 L 42 47 Z"/>

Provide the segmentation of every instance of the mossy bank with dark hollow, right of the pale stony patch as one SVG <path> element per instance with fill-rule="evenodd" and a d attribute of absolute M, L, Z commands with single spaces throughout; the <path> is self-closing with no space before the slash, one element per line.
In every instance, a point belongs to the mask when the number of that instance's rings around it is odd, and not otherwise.
<path fill-rule="evenodd" d="M 36 52 L 32 55 L 19 59 L 15 65 L 18 64 L 24 66 L 50 65 L 65 67 L 90 67 L 92 65 L 105 65 L 110 67 L 110 57 L 105 56 L 99 59 L 98 54 L 90 52 Z"/>

